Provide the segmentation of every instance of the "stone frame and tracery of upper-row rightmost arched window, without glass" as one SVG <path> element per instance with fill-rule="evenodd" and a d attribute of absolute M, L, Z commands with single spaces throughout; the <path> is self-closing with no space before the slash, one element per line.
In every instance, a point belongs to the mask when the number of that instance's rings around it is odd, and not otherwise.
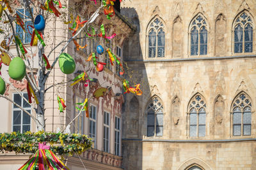
<path fill-rule="evenodd" d="M 246 13 L 246 15 L 248 15 L 248 17 L 250 17 L 251 21 L 244 24 L 242 23 L 242 21 L 236 22 L 238 18 L 241 17 L 241 15 L 243 15 L 243 13 Z M 242 52 L 235 52 L 235 29 L 237 27 L 237 25 L 242 25 L 242 30 L 243 30 L 243 39 L 242 39 Z M 246 25 L 250 24 L 252 26 L 252 52 L 244 52 L 244 28 L 246 27 Z M 253 39 L 255 40 L 255 24 L 254 24 L 254 18 L 251 15 L 250 11 L 248 10 L 242 10 L 239 13 L 237 13 L 236 17 L 234 17 L 233 23 L 232 23 L 232 53 L 234 55 L 241 55 L 241 54 L 251 54 L 253 52 L 255 52 L 255 42 L 253 41 Z"/>

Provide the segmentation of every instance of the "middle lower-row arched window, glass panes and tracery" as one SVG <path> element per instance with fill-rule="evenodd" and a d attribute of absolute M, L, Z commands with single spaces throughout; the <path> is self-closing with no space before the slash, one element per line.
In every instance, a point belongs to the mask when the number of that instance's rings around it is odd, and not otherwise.
<path fill-rule="evenodd" d="M 205 136 L 206 104 L 200 94 L 196 94 L 189 103 L 189 136 Z"/>

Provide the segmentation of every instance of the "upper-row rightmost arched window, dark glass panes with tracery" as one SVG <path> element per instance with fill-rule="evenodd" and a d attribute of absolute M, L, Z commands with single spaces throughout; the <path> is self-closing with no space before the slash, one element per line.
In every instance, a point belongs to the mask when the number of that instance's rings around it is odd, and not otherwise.
<path fill-rule="evenodd" d="M 234 23 L 234 52 L 252 52 L 253 27 L 252 19 L 245 12 L 236 17 Z"/>

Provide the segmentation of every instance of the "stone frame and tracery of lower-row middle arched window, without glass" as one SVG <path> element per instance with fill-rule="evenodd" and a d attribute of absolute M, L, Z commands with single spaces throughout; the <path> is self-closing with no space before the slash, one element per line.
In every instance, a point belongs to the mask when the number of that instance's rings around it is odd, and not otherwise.
<path fill-rule="evenodd" d="M 196 97 L 200 96 L 200 99 L 199 101 L 196 99 Z M 193 103 L 195 101 L 195 104 Z M 204 103 L 201 103 L 201 102 L 204 102 Z M 197 107 L 199 106 L 199 107 Z M 191 110 L 195 108 L 196 110 L 196 136 L 190 136 L 190 128 L 191 128 L 191 124 L 190 124 L 190 116 L 191 116 Z M 205 123 L 204 124 L 199 124 L 199 114 L 200 114 L 200 110 L 204 109 L 204 112 L 202 112 L 201 114 L 205 114 Z M 188 132 L 187 132 L 187 136 L 189 138 L 205 138 L 207 136 L 207 126 L 206 126 L 206 122 L 207 122 L 207 104 L 206 104 L 206 100 L 205 100 L 205 97 L 200 94 L 199 92 L 197 92 L 196 94 L 194 94 L 191 99 L 189 100 L 189 104 L 188 104 L 188 112 L 187 112 L 187 129 L 188 129 Z M 199 136 L 199 126 L 202 126 L 204 125 L 205 128 L 204 128 L 204 132 L 205 132 L 205 135 L 204 136 Z"/>

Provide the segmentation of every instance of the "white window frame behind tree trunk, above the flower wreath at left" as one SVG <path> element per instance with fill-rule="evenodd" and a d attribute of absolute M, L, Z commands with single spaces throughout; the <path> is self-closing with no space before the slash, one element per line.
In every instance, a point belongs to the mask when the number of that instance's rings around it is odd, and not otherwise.
<path fill-rule="evenodd" d="M 22 94 L 22 96 L 24 96 L 24 94 L 28 94 L 26 92 L 20 92 Z M 12 94 L 12 99 L 14 101 L 14 95 L 17 94 L 20 96 L 19 93 L 13 93 Z M 21 97 L 21 96 L 20 96 Z M 24 102 L 24 99 L 21 97 L 21 107 L 23 108 L 23 102 Z M 30 113 L 31 113 L 31 107 L 28 107 L 28 108 L 24 108 L 25 110 L 30 110 Z M 31 131 L 31 117 L 30 117 L 30 123 L 29 124 L 23 124 L 23 114 L 27 114 L 27 113 L 24 113 L 23 110 L 21 110 L 20 108 L 14 108 L 14 105 L 12 104 L 12 132 L 13 132 L 13 111 L 20 111 L 20 133 L 23 133 L 23 125 L 30 125 L 30 130 Z"/>

